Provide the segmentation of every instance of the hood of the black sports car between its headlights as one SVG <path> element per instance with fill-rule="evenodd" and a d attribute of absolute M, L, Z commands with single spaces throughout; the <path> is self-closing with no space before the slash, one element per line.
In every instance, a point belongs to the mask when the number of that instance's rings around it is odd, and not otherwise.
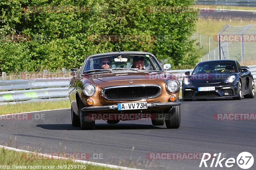
<path fill-rule="evenodd" d="M 194 84 L 215 84 L 225 80 L 231 74 L 220 74 L 220 73 L 200 73 L 186 76 L 189 81 Z"/>

